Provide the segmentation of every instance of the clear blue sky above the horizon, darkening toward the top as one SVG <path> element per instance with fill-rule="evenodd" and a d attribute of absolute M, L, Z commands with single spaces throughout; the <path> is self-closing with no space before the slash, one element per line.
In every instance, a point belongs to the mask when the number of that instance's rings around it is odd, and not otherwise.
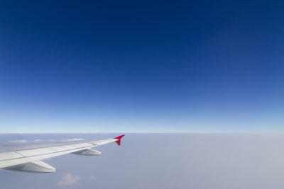
<path fill-rule="evenodd" d="M 283 132 L 283 6 L 1 1 L 0 132 Z"/>

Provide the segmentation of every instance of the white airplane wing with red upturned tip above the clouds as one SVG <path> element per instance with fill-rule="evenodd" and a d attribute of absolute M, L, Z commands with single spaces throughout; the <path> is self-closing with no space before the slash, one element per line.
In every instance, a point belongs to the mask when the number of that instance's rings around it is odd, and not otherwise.
<path fill-rule="evenodd" d="M 84 142 L 73 142 L 71 144 L 55 144 L 49 147 L 38 147 L 31 149 L 21 149 L 16 151 L 0 152 L 0 168 L 13 171 L 31 171 L 40 173 L 55 172 L 56 168 L 45 164 L 43 159 L 61 156 L 63 154 L 79 154 L 84 156 L 94 156 L 102 154 L 100 151 L 92 149 L 110 142 L 121 144 L 121 138 L 89 140 Z"/>

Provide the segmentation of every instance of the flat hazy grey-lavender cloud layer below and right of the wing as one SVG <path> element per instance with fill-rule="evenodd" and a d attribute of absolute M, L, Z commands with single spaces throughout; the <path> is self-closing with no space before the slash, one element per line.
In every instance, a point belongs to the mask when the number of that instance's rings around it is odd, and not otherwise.
<path fill-rule="evenodd" d="M 0 188 L 283 189 L 283 147 L 284 134 L 126 134 L 101 156 L 44 160 L 55 173 L 0 170 Z"/>

